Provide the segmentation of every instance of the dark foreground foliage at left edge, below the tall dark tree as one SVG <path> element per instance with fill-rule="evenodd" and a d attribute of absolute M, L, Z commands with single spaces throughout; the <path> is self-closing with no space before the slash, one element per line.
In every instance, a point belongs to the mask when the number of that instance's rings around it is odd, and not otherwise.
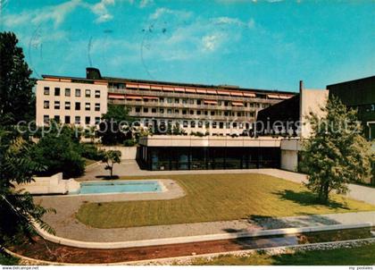
<path fill-rule="evenodd" d="M 31 237 L 33 223 L 53 233 L 43 222 L 42 216 L 54 209 L 35 205 L 25 191 L 14 191 L 14 183 L 33 181 L 34 173 L 44 169 L 30 156 L 31 142 L 22 139 L 11 126 L 0 124 L 0 246 L 19 240 L 19 236 Z"/>

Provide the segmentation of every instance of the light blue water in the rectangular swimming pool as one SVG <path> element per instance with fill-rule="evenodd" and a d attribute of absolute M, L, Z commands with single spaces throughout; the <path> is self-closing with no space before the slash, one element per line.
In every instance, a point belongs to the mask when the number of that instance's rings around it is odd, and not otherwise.
<path fill-rule="evenodd" d="M 159 181 L 92 181 L 80 183 L 79 194 L 161 191 Z"/>

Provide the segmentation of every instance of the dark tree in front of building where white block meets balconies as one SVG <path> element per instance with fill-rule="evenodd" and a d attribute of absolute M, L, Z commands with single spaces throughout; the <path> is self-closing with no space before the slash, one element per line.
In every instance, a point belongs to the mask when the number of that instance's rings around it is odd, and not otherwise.
<path fill-rule="evenodd" d="M 98 136 L 104 145 L 122 144 L 126 139 L 132 139 L 131 124 L 135 121 L 130 117 L 123 105 L 109 105 L 108 111 L 102 116 Z"/>

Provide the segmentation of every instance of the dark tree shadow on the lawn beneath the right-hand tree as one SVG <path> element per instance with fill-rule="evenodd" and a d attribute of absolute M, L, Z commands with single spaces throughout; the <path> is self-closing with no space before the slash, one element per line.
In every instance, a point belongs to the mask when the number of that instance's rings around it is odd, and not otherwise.
<path fill-rule="evenodd" d="M 296 192 L 293 190 L 283 190 L 283 191 L 278 191 L 274 192 L 273 194 L 276 194 L 279 196 L 280 199 L 283 200 L 290 200 L 293 201 L 301 206 L 305 207 L 318 207 L 318 206 L 323 206 L 323 207 L 329 207 L 331 209 L 346 209 L 348 210 L 349 207 L 346 206 L 346 204 L 338 203 L 336 201 L 329 200 L 327 204 L 322 204 L 318 198 L 316 197 L 315 194 L 313 194 L 310 191 L 300 191 Z"/>

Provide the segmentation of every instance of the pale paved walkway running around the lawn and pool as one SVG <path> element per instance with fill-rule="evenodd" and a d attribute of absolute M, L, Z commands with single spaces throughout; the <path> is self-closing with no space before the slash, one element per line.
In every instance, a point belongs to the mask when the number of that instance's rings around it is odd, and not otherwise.
<path fill-rule="evenodd" d="M 97 180 L 94 175 L 106 175 L 104 165 L 93 165 L 89 168 L 86 175 L 80 178 L 80 181 Z M 291 173 L 278 169 L 250 169 L 250 170 L 210 170 L 210 171 L 173 171 L 173 172 L 149 172 L 141 171 L 135 161 L 123 161 L 121 165 L 115 165 L 114 173 L 118 175 L 136 176 L 136 175 L 157 175 L 165 174 L 212 174 L 212 173 L 265 173 L 275 177 L 287 179 L 301 183 L 306 180 L 306 176 L 301 173 Z M 183 196 L 178 185 L 171 180 L 167 181 L 165 185 L 174 190 L 171 192 L 171 197 L 177 198 Z M 375 189 L 350 185 L 350 192 L 348 197 L 364 200 L 375 205 Z M 146 195 L 146 194 L 144 194 Z M 149 195 L 146 195 L 149 196 Z M 86 241 L 125 241 L 125 240 L 145 240 L 170 238 L 178 236 L 192 236 L 204 234 L 216 234 L 222 232 L 254 232 L 257 230 L 268 230 L 288 227 L 306 227 L 319 226 L 327 224 L 360 224 L 371 222 L 375 224 L 374 212 L 360 212 L 360 213 L 346 213 L 346 214 L 330 214 L 330 215 L 302 215 L 282 218 L 268 218 L 260 220 L 234 220 L 223 222 L 209 222 L 197 224 L 173 224 L 173 225 L 159 225 L 159 226 L 144 226 L 134 228 L 120 228 L 120 229 L 97 229 L 88 227 L 85 224 L 80 224 L 76 218 L 75 213 L 82 203 L 85 201 L 108 201 L 108 200 L 132 200 L 132 199 L 158 199 L 154 197 L 139 197 L 134 194 L 134 197 L 127 197 L 124 195 L 109 195 L 107 196 L 44 196 L 37 197 L 37 202 L 40 202 L 45 207 L 54 207 L 57 209 L 57 215 L 46 215 L 46 222 L 51 224 L 57 236 L 69 238 L 73 240 Z"/>

